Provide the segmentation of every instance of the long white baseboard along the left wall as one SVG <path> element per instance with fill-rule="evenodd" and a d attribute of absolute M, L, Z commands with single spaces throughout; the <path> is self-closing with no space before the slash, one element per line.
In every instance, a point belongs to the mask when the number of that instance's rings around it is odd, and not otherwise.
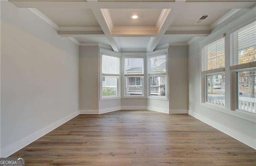
<path fill-rule="evenodd" d="M 54 122 L 53 124 L 50 124 L 49 126 L 46 126 L 45 128 L 42 128 L 41 130 L 23 138 L 22 140 L 19 140 L 17 142 L 15 142 L 14 144 L 4 148 L 1 150 L 1 157 L 2 158 L 6 158 L 12 154 L 14 154 L 15 152 L 17 152 L 18 150 L 24 148 L 25 146 L 27 146 L 28 144 L 34 142 L 35 140 L 37 140 L 38 138 L 44 136 L 45 134 L 51 132 L 52 130 L 54 130 L 55 128 L 59 127 L 60 125 L 68 122 L 70 119 L 76 117 L 79 115 L 79 112 L 73 112 L 72 114 L 58 120 L 57 122 Z"/>

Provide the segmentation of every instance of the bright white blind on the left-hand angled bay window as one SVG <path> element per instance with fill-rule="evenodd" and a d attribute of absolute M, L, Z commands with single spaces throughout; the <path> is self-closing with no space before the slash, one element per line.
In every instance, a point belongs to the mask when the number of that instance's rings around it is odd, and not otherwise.
<path fill-rule="evenodd" d="M 119 74 L 120 58 L 102 55 L 102 75 Z"/>

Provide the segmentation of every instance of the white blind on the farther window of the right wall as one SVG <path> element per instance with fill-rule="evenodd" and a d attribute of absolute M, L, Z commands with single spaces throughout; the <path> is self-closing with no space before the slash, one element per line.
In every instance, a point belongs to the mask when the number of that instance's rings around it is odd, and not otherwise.
<path fill-rule="evenodd" d="M 202 48 L 202 72 L 225 67 L 225 40 L 220 38 Z"/>

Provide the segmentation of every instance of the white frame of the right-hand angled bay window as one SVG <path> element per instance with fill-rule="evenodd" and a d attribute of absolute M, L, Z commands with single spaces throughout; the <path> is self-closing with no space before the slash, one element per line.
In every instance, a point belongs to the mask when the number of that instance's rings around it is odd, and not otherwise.
<path fill-rule="evenodd" d="M 158 74 L 154 74 L 154 75 L 148 75 L 148 59 L 152 58 L 152 57 L 156 57 L 156 56 L 163 56 L 165 55 L 166 59 L 165 59 L 165 63 L 166 63 L 166 73 L 165 75 L 158 75 Z M 169 55 L 169 50 L 168 48 L 163 49 L 163 50 L 157 50 L 154 52 L 150 52 L 147 54 L 147 58 L 146 58 L 146 80 L 147 80 L 147 98 L 150 99 L 157 99 L 157 100 L 168 100 L 168 96 L 169 96 L 169 77 L 168 77 L 168 55 Z M 151 96 L 150 95 L 150 91 L 151 91 L 151 87 L 150 87 L 150 77 L 159 77 L 159 76 L 165 76 L 165 96 Z"/>

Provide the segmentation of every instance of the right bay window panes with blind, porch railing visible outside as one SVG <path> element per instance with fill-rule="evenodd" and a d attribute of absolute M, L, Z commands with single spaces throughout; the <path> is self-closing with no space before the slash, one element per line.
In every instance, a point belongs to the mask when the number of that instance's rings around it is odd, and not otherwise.
<path fill-rule="evenodd" d="M 148 58 L 148 96 L 167 98 L 166 54 Z"/>

